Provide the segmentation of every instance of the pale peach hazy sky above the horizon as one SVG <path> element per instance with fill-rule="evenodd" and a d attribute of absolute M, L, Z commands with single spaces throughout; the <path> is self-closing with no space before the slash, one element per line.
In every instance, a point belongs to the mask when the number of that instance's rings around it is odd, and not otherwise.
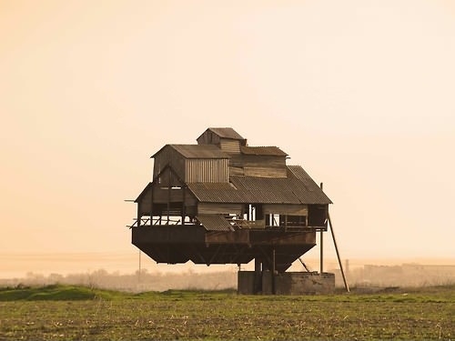
<path fill-rule="evenodd" d="M 342 256 L 455 257 L 452 1 L 0 0 L 0 115 L 2 253 L 136 252 L 149 156 L 231 126 Z"/>

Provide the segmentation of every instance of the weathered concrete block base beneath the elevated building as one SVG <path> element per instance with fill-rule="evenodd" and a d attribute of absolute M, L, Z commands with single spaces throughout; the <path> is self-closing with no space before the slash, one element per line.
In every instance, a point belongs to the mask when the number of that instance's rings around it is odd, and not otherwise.
<path fill-rule="evenodd" d="M 314 295 L 330 294 L 335 290 L 335 274 L 285 272 L 272 276 L 270 271 L 238 272 L 240 295 Z"/>

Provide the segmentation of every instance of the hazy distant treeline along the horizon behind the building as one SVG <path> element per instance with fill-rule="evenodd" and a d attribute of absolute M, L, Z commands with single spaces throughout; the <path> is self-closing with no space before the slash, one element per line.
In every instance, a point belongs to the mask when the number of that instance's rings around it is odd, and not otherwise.
<path fill-rule="evenodd" d="M 440 286 L 455 284 L 455 266 L 363 266 L 345 269 L 349 286 Z M 342 287 L 339 269 L 329 269 L 335 273 L 336 286 Z M 46 286 L 52 284 L 79 285 L 96 288 L 115 289 L 129 292 L 166 291 L 168 289 L 224 290 L 237 289 L 237 271 L 198 273 L 141 272 L 123 275 L 109 273 L 104 269 L 79 274 L 28 273 L 24 278 L 0 279 L 0 286 Z"/>

